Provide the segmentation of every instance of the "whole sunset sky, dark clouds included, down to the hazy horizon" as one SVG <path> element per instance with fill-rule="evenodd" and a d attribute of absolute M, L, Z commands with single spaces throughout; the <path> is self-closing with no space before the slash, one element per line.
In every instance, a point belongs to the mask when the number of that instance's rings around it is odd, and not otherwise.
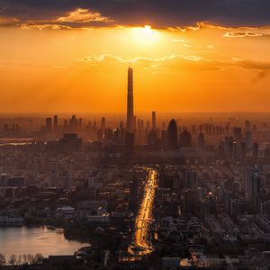
<path fill-rule="evenodd" d="M 269 112 L 268 4 L 208 2 L 0 1 L 0 112 L 124 113 L 130 64 L 136 113 Z"/>

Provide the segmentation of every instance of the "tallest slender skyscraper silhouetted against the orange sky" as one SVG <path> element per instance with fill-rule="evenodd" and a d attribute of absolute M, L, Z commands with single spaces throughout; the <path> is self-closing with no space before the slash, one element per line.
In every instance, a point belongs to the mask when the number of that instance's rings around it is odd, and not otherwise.
<path fill-rule="evenodd" d="M 128 70 L 128 103 L 127 103 L 127 130 L 134 131 L 134 111 L 133 111 L 133 69 Z"/>

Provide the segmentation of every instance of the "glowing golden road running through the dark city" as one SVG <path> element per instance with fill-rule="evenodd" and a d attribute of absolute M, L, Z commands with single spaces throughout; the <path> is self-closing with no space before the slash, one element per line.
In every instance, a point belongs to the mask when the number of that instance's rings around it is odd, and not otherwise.
<path fill-rule="evenodd" d="M 152 218 L 153 201 L 157 187 L 157 171 L 148 169 L 148 180 L 144 188 L 144 195 L 139 207 L 139 213 L 135 220 L 134 241 L 129 248 L 133 255 L 146 255 L 153 248 L 150 243 L 150 225 Z"/>

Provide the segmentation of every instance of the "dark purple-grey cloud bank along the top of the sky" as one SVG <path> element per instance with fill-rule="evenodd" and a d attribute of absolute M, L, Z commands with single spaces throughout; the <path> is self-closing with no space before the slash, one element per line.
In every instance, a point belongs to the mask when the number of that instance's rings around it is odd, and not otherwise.
<path fill-rule="evenodd" d="M 76 8 L 98 12 L 123 25 L 270 24 L 269 0 L 0 0 L 2 16 L 22 21 L 53 20 Z"/>

